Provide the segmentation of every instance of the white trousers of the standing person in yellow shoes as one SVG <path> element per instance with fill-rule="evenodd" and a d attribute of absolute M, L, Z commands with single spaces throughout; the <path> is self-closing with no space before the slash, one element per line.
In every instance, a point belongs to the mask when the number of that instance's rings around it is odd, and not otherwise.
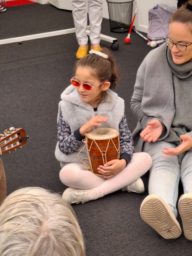
<path fill-rule="evenodd" d="M 87 0 L 71 0 L 73 20 L 78 44 L 87 44 Z M 102 0 L 88 0 L 91 44 L 100 43 L 102 23 Z"/>

